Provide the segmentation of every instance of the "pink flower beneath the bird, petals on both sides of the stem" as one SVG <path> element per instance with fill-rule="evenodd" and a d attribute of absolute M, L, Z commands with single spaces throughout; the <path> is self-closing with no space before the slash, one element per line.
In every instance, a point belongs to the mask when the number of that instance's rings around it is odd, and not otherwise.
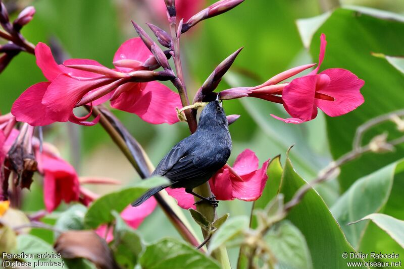
<path fill-rule="evenodd" d="M 256 154 L 246 149 L 239 154 L 233 168 L 223 167 L 210 180 L 209 184 L 213 194 L 218 200 L 233 200 L 237 198 L 244 201 L 254 201 L 261 197 L 267 182 L 267 168 L 269 160 L 261 168 Z M 231 169 L 240 176 L 237 178 Z M 184 209 L 195 209 L 193 195 L 185 189 L 166 189 L 177 199 L 178 205 Z"/>

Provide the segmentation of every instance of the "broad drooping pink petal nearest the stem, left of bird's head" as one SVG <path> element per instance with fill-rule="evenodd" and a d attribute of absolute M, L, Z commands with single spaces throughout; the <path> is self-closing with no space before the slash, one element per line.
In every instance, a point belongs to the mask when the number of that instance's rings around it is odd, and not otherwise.
<path fill-rule="evenodd" d="M 111 102 L 112 107 L 135 113 L 144 121 L 153 124 L 173 124 L 178 121 L 175 108 L 181 108 L 182 105 L 177 93 L 155 81 L 130 85 L 131 88 L 123 91 L 117 99 Z M 143 85 L 145 85 L 144 89 L 141 89 Z"/>

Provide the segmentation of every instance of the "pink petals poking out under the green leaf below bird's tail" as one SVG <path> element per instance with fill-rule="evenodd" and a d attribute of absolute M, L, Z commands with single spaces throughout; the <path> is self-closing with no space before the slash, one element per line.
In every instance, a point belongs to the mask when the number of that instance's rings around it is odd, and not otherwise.
<path fill-rule="evenodd" d="M 144 218 L 150 215 L 156 208 L 157 201 L 154 197 L 147 199 L 139 207 L 133 208 L 132 206 L 126 207 L 122 213 L 121 217 L 126 222 L 127 225 L 136 229 L 143 222 Z M 99 226 L 95 232 L 109 243 L 114 239 L 113 231 L 110 229 L 107 233 L 107 225 Z"/>

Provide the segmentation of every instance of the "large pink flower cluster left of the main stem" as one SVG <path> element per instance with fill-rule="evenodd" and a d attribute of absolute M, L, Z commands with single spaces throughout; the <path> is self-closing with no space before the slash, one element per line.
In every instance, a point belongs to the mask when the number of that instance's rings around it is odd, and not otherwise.
<path fill-rule="evenodd" d="M 140 38 L 124 42 L 114 56 L 116 69 L 108 69 L 94 60 L 69 59 L 58 65 L 51 49 L 43 43 L 35 48 L 36 62 L 48 82 L 29 87 L 15 101 L 12 114 L 18 121 L 47 125 L 71 121 L 93 125 L 98 117 L 86 121 L 91 113 L 77 117 L 73 109 L 97 105 L 111 98 L 114 108 L 137 114 L 154 123 L 178 121 L 175 107 L 181 107 L 179 95 L 155 80 L 159 72 L 146 71 L 142 64 L 154 57 Z M 162 106 L 164 104 L 164 106 Z"/>

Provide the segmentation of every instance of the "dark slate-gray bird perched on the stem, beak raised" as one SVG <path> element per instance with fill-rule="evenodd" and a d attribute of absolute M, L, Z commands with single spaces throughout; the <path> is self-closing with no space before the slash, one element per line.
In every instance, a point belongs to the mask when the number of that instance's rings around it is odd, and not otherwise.
<path fill-rule="evenodd" d="M 165 176 L 171 184 L 149 189 L 132 206 L 137 207 L 162 189 L 171 187 L 185 188 L 186 192 L 217 207 L 215 197 L 203 197 L 192 189 L 208 181 L 222 168 L 229 159 L 230 151 L 229 124 L 222 102 L 216 99 L 200 113 L 196 131 L 175 145 L 151 174 Z"/>

